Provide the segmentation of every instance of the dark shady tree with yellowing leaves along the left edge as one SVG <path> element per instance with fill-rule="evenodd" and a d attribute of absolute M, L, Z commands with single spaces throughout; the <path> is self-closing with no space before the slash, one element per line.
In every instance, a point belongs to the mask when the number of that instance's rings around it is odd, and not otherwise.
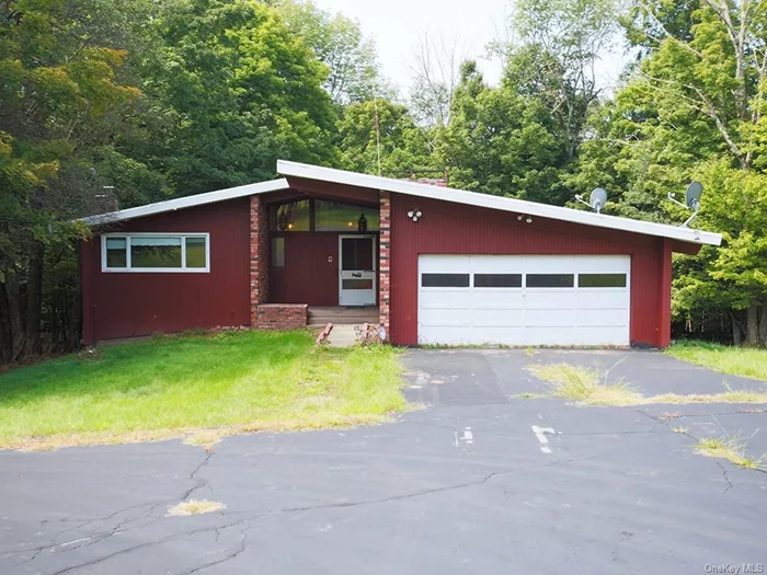
<path fill-rule="evenodd" d="M 43 350 L 46 262 L 73 255 L 83 227 L 69 218 L 93 200 L 81 174 L 111 119 L 138 96 L 122 84 L 126 53 L 105 42 L 119 24 L 98 2 L 0 4 L 0 354 Z M 115 18 L 112 18 L 115 16 Z M 77 313 L 69 313 L 75 321 Z"/>

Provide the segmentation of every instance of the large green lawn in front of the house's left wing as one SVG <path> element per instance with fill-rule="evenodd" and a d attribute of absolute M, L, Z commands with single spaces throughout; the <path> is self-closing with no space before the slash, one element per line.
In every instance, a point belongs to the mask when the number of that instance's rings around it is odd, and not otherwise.
<path fill-rule="evenodd" d="M 0 447 L 377 422 L 405 406 L 399 375 L 396 349 L 318 348 L 308 332 L 102 346 L 0 376 Z"/>

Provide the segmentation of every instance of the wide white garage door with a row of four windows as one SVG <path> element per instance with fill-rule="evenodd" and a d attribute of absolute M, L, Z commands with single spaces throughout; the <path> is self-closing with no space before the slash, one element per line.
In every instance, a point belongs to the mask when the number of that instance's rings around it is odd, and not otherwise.
<path fill-rule="evenodd" d="M 629 345 L 628 255 L 421 255 L 419 343 Z"/>

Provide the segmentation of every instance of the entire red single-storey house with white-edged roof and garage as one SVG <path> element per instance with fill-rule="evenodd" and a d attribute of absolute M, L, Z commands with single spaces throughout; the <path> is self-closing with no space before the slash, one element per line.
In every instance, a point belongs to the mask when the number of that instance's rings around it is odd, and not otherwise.
<path fill-rule="evenodd" d="M 671 338 L 672 252 L 721 235 L 277 162 L 283 180 L 87 218 L 85 343 L 304 326 L 365 308 L 399 345 Z M 362 313 L 362 312 L 360 312 Z"/>

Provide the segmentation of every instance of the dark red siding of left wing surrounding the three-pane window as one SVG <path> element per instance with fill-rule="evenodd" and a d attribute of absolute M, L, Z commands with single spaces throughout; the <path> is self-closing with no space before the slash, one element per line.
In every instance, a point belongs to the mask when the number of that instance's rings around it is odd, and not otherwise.
<path fill-rule="evenodd" d="M 208 232 L 210 273 L 102 273 L 101 238 L 82 244 L 83 340 L 250 324 L 249 203 L 139 218 L 108 232 Z"/>

